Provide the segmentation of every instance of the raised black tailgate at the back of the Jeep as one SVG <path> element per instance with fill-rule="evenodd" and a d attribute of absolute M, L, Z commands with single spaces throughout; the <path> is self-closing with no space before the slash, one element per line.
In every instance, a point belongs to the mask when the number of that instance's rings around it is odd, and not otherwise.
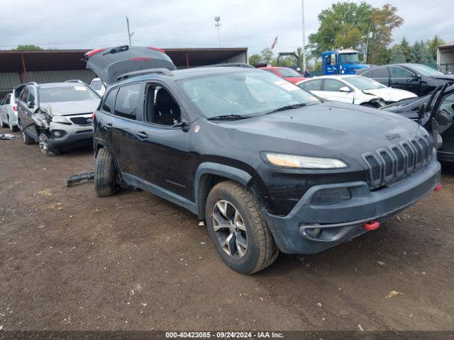
<path fill-rule="evenodd" d="M 164 50 L 155 47 L 99 48 L 85 53 L 84 60 L 87 60 L 87 69 L 92 69 L 107 85 L 114 84 L 122 74 L 142 69 L 177 69 Z"/>

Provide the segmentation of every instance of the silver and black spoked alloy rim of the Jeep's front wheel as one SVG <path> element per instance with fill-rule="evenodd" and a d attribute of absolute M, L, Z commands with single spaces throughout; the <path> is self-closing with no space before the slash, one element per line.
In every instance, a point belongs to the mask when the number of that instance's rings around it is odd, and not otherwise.
<path fill-rule="evenodd" d="M 242 259 L 248 251 L 248 232 L 238 209 L 227 200 L 219 200 L 213 209 L 213 227 L 226 254 Z"/>

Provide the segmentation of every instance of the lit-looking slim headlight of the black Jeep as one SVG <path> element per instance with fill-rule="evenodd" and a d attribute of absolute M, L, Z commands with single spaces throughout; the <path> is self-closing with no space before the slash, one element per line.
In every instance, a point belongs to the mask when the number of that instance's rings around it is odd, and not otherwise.
<path fill-rule="evenodd" d="M 266 152 L 264 156 L 267 162 L 273 165 L 283 166 L 284 168 L 341 169 L 347 167 L 347 164 L 341 161 L 341 159 L 275 154 L 272 152 Z"/>

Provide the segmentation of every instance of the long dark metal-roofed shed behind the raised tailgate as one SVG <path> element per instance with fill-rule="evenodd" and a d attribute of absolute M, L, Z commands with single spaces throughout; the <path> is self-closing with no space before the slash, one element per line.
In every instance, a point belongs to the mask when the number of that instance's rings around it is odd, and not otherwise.
<path fill-rule="evenodd" d="M 248 62 L 247 47 L 233 48 L 166 48 L 177 68 L 223 62 Z M 95 76 L 86 69 L 82 56 L 89 50 L 0 51 L 0 94 L 28 81 L 50 83 L 80 79 L 90 83 Z"/>

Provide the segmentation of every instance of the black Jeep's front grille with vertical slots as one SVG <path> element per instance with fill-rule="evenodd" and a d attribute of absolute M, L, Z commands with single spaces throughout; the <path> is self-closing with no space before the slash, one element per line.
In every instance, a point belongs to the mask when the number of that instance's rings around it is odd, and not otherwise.
<path fill-rule="evenodd" d="M 432 138 L 424 135 L 362 154 L 369 169 L 370 188 L 380 188 L 413 174 L 431 160 L 432 150 Z"/>

